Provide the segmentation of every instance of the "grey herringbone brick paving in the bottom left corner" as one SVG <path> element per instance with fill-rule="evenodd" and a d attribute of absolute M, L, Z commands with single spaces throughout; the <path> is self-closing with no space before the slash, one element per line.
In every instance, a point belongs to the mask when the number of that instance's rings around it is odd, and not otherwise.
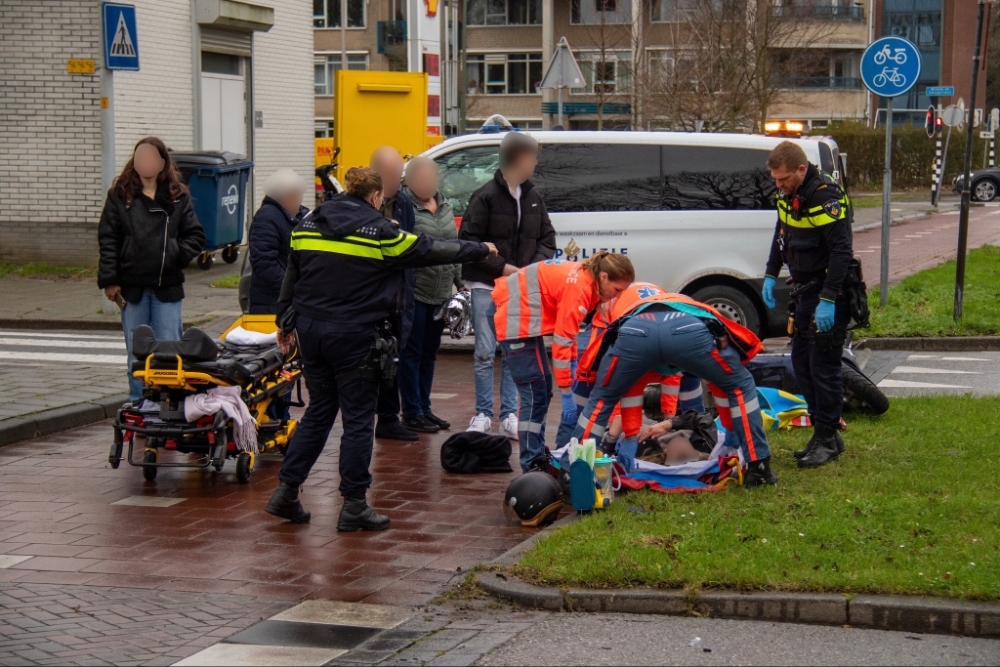
<path fill-rule="evenodd" d="M 288 607 L 244 595 L 0 584 L 0 664 L 170 665 Z"/>

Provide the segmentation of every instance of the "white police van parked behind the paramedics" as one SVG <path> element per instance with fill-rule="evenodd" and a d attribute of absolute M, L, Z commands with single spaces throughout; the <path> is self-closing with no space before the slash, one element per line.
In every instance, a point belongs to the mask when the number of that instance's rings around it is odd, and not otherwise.
<path fill-rule="evenodd" d="M 681 132 L 532 132 L 542 147 L 532 182 L 557 233 L 557 259 L 627 254 L 638 280 L 709 303 L 762 337 L 785 335 L 787 302 L 760 297 L 776 221 L 768 153 L 784 139 Z M 448 139 L 424 155 L 461 217 L 493 178 L 501 133 Z M 810 162 L 841 180 L 832 139 L 796 139 Z"/>

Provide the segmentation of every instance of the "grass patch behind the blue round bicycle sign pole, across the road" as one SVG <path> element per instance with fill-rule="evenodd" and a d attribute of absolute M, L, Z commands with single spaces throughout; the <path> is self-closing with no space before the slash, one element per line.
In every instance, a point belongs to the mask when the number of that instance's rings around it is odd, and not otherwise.
<path fill-rule="evenodd" d="M 881 308 L 879 289 L 868 295 L 871 326 L 865 336 L 994 336 L 1000 333 L 1000 247 L 969 251 L 962 319 L 955 322 L 955 260 L 915 273 L 889 288 Z M 876 278 L 877 282 L 877 278 Z"/>

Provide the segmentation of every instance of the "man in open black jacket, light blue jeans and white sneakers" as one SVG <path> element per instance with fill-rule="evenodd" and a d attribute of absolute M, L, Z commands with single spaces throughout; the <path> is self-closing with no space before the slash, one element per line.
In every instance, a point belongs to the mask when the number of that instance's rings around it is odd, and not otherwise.
<path fill-rule="evenodd" d="M 493 284 L 519 268 L 551 259 L 556 233 L 541 195 L 530 179 L 538 165 L 538 142 L 520 132 L 508 132 L 500 142 L 500 169 L 493 180 L 472 194 L 458 238 L 489 241 L 498 254 L 466 264 L 462 276 L 472 290 L 476 331 L 476 416 L 470 431 L 489 433 L 493 424 L 493 368 L 496 328 Z M 517 439 L 517 387 L 506 363 L 500 367 L 500 435 Z"/>

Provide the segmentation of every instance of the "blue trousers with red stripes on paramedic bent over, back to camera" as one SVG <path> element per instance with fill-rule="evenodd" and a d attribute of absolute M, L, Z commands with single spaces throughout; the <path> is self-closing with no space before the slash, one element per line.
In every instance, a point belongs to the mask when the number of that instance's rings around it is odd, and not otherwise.
<path fill-rule="evenodd" d="M 715 337 L 704 322 L 666 307 L 649 308 L 622 324 L 601 360 L 597 384 L 573 435 L 578 440 L 585 433 L 600 438 L 625 392 L 647 372 L 665 366 L 704 378 L 726 393 L 727 406 L 716 398 L 719 410 L 728 409 L 732 416 L 726 445 L 739 447 L 748 462 L 771 455 L 757 387 L 739 354 L 732 347 L 716 350 Z"/>

